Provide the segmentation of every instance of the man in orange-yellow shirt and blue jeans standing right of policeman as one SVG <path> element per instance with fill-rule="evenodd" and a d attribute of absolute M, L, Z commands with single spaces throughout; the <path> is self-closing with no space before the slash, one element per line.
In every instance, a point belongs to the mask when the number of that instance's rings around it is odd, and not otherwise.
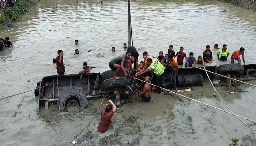
<path fill-rule="evenodd" d="M 177 91 L 176 89 L 176 75 L 178 73 L 178 61 L 173 57 L 172 54 L 168 54 L 168 61 L 166 62 L 166 66 L 170 64 L 172 70 L 172 81 L 173 81 L 173 89 L 172 92 Z"/>

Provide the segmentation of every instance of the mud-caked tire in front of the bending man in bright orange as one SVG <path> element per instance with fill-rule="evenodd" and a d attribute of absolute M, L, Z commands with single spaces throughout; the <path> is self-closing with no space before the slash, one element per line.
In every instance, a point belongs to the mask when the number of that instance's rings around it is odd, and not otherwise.
<path fill-rule="evenodd" d="M 230 72 L 230 74 L 240 75 L 244 73 L 244 66 L 239 64 L 223 64 L 218 66 L 218 74 L 226 74 Z"/>

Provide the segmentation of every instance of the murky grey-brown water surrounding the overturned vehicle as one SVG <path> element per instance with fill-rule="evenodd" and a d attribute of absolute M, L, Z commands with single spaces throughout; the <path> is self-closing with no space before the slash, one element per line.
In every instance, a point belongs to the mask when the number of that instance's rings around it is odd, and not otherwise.
<path fill-rule="evenodd" d="M 42 77 L 56 74 L 55 66 L 42 64 L 50 63 L 59 49 L 64 50 L 66 74 L 81 71 L 83 62 L 97 67 L 91 72 L 103 72 L 109 69 L 108 61 L 125 52 L 122 46 L 128 40 L 128 3 L 124 0 L 77 2 L 41 1 L 22 16 L 22 21 L 14 23 L 14 28 L 0 30 L 2 38 L 8 36 L 14 43 L 14 49 L 0 52 L 1 97 L 34 89 Z M 159 51 L 166 53 L 170 44 L 174 45 L 174 51 L 183 46 L 187 55 L 192 51 L 195 57 L 210 45 L 214 65 L 224 64 L 217 61 L 214 43 L 220 48 L 225 43 L 230 52 L 244 47 L 246 64 L 256 61 L 252 54 L 256 46 L 253 12 L 211 0 L 138 0 L 132 1 L 131 6 L 133 44 L 140 48 L 139 61 L 143 51 L 148 51 L 150 56 Z M 74 44 L 75 39 L 79 40 L 78 46 Z M 116 47 L 115 53 L 110 51 L 112 46 Z M 74 56 L 75 49 L 80 51 L 77 56 Z M 92 51 L 87 52 L 89 49 Z M 248 92 L 226 94 L 229 91 L 225 87 L 217 90 L 233 112 L 256 120 L 255 88 L 248 85 L 239 88 Z M 227 110 L 214 93 L 205 79 L 203 87 L 193 87 L 186 95 Z M 33 94 L 0 100 L 1 146 L 62 145 L 87 125 L 101 102 L 101 99 L 89 101 L 87 110 L 62 116 L 49 107 L 42 110 L 44 117 L 40 118 Z M 226 146 L 231 138 L 238 138 L 246 145 L 255 145 L 256 139 L 255 131 L 236 117 L 180 96 L 154 93 L 150 103 L 140 100 L 138 104 L 124 105 L 113 116 L 105 134 L 97 132 L 99 120 L 100 115 L 76 139 L 76 145 L 98 146 L 106 142 L 117 146 Z"/>

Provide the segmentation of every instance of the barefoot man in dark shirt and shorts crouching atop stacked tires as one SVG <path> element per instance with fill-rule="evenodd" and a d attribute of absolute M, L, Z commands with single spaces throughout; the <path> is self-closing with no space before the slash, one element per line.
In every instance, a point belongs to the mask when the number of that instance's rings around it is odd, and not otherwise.
<path fill-rule="evenodd" d="M 125 76 L 129 76 L 128 73 L 125 71 L 124 64 L 126 59 L 129 59 L 130 53 L 127 51 L 125 55 L 120 55 L 109 62 L 110 69 L 116 69 L 116 72 L 113 75 L 113 78 L 118 80 L 120 77 L 117 76 L 117 73 L 122 69 Z"/>

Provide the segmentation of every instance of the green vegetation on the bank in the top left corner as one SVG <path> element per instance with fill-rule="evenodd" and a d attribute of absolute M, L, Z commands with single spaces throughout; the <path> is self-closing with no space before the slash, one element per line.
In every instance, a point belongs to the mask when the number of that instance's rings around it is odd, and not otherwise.
<path fill-rule="evenodd" d="M 17 20 L 20 14 L 29 11 L 29 7 L 34 4 L 33 0 L 20 0 L 14 3 L 14 7 L 6 7 L 0 9 L 0 22 L 5 22 L 6 20 Z"/>

